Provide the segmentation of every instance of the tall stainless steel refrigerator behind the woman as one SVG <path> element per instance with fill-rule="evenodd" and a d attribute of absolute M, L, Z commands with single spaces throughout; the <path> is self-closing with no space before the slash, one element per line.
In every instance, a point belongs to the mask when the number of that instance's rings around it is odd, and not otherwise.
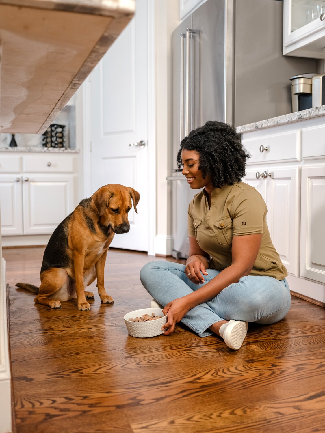
<path fill-rule="evenodd" d="M 208 0 L 172 34 L 173 256 L 188 256 L 191 190 L 177 171 L 181 140 L 208 120 L 240 126 L 291 113 L 290 77 L 317 61 L 282 55 L 283 2 Z"/>

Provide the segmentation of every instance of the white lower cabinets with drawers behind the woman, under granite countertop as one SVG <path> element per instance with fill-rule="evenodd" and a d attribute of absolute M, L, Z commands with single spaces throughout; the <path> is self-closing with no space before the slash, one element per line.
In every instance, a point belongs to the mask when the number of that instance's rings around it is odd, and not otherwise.
<path fill-rule="evenodd" d="M 261 126 L 241 135 L 252 155 L 243 181 L 266 201 L 271 239 L 293 294 L 325 305 L 325 116 Z"/>

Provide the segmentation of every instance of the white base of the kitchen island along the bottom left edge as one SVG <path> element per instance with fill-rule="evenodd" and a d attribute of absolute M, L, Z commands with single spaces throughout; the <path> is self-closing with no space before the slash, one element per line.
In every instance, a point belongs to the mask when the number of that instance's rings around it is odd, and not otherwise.
<path fill-rule="evenodd" d="M 12 431 L 11 375 L 7 331 L 6 262 L 1 258 L 0 269 L 0 433 Z"/>

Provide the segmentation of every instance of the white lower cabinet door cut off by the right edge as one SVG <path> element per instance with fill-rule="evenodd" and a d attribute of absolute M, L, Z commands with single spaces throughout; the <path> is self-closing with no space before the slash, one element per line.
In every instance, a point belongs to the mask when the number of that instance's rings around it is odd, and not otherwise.
<path fill-rule="evenodd" d="M 325 284 L 325 167 L 302 168 L 300 275 Z"/>

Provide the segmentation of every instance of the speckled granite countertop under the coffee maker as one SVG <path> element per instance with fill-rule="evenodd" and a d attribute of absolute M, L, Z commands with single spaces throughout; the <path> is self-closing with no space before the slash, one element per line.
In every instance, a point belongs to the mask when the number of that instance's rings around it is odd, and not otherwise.
<path fill-rule="evenodd" d="M 265 129 L 272 126 L 283 125 L 285 123 L 297 122 L 298 120 L 311 119 L 312 117 L 325 116 L 325 105 L 321 107 L 309 108 L 308 110 L 296 111 L 296 113 L 284 114 L 283 116 L 273 117 L 271 119 L 260 120 L 255 123 L 237 126 L 237 134 L 254 131 L 255 129 Z"/>

